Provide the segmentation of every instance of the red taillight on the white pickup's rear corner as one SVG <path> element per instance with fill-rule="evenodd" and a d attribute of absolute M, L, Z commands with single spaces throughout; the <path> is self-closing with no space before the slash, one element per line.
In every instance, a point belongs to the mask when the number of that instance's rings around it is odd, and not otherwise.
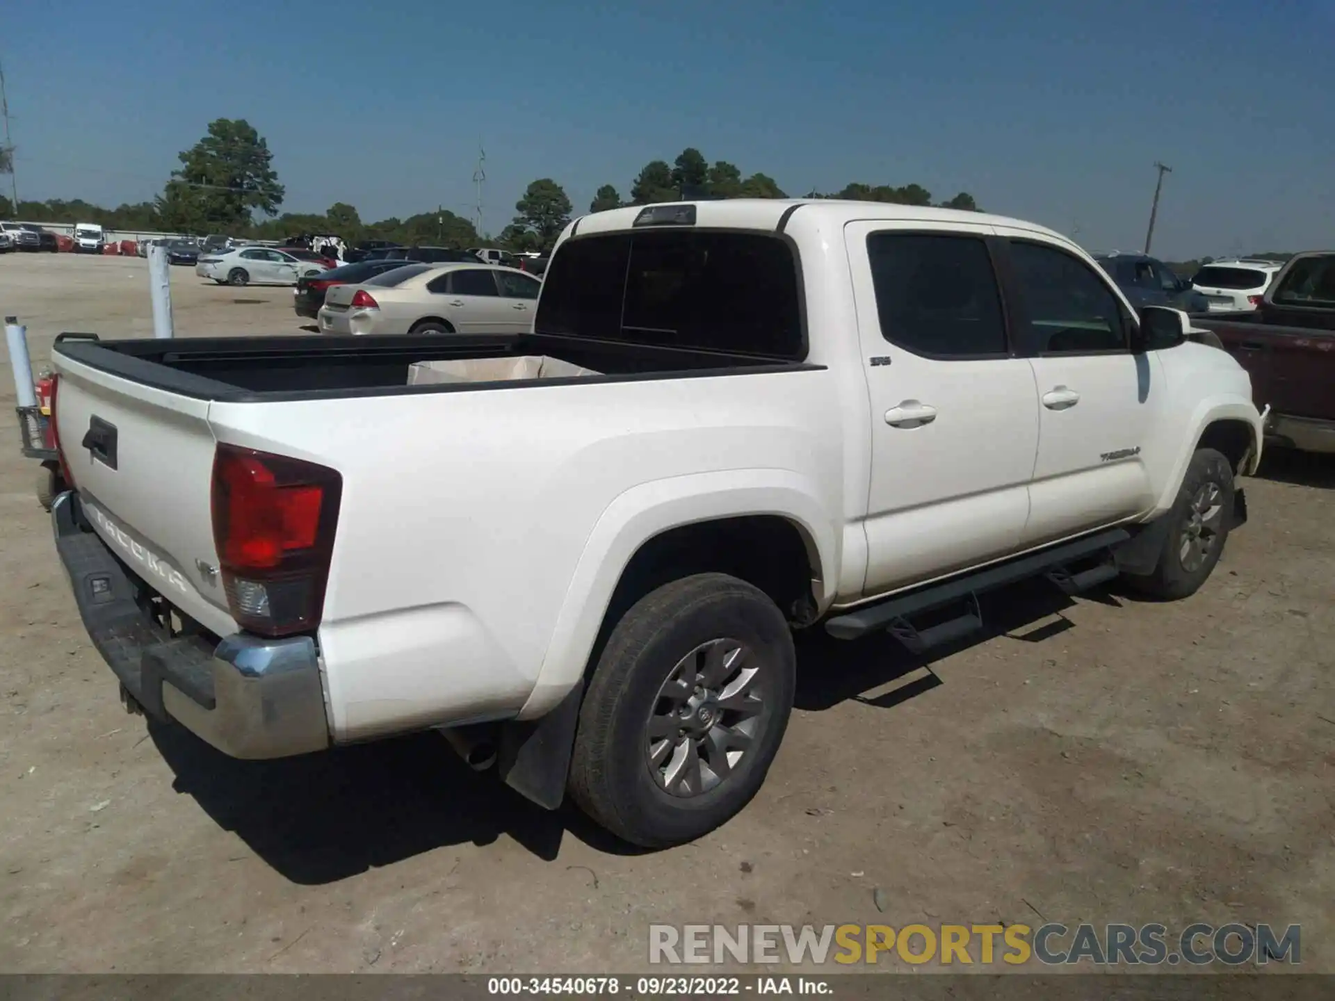
<path fill-rule="evenodd" d="M 244 629 L 278 637 L 319 626 L 342 488 L 326 466 L 218 446 L 214 546 Z"/>

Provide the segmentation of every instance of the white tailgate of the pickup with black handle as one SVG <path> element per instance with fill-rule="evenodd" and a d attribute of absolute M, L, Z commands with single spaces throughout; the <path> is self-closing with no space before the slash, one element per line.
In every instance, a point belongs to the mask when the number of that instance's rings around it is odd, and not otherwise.
<path fill-rule="evenodd" d="M 235 633 L 210 511 L 210 402 L 53 362 L 60 443 L 93 531 L 180 613 Z"/>

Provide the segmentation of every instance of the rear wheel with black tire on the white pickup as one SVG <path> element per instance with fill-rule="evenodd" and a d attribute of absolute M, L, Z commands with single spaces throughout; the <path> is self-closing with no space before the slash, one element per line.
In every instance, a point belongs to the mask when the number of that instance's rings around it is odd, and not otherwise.
<path fill-rule="evenodd" d="M 669 681 L 681 683 L 682 665 L 697 665 L 685 670 L 702 670 L 700 681 L 705 681 L 708 667 L 698 665 L 709 663 L 709 650 L 722 649 L 726 655 L 733 642 L 745 650 L 734 662 L 742 667 L 732 685 L 740 682 L 749 670 L 745 665 L 750 663 L 757 669 L 750 678 L 760 682 L 728 697 L 733 705 L 746 702 L 745 711 L 726 706 L 702 709 L 704 702 L 692 710 L 689 702 L 678 701 L 688 695 L 665 694 Z M 726 678 L 737 667 L 722 670 Z M 599 825 L 643 848 L 680 845 L 708 834 L 741 811 L 765 781 L 788 726 L 796 675 L 797 657 L 788 622 L 760 589 L 725 574 L 697 574 L 658 587 L 622 615 L 598 658 L 579 710 L 570 762 L 571 797 Z M 720 685 L 722 691 L 729 690 L 724 682 Z M 693 691 L 689 698 L 696 702 L 702 689 Z M 750 703 L 757 691 L 758 709 Z M 705 698 L 713 694 L 705 691 Z M 709 727 L 709 717 L 717 721 L 700 742 L 710 751 L 709 761 L 696 757 L 694 777 L 678 783 L 677 794 L 666 785 L 673 781 L 673 762 L 684 746 L 685 757 L 693 757 L 696 739 L 682 737 L 688 730 L 663 737 L 657 745 L 650 738 L 655 722 L 677 726 L 672 722 L 677 717 L 663 711 L 673 705 L 680 706 L 673 711 L 696 713 L 692 726 Z M 725 726 L 725 721 L 730 722 Z M 749 734 L 740 733 L 746 727 Z M 722 743 L 722 774 L 713 771 L 710 763 L 718 753 L 710 738 L 720 731 L 729 734 Z M 749 743 L 736 743 L 737 737 L 748 738 Z M 650 755 L 665 743 L 670 747 L 655 766 Z M 740 757 L 729 759 L 728 749 L 740 746 L 745 747 Z M 692 774 L 685 767 L 682 773 Z"/>

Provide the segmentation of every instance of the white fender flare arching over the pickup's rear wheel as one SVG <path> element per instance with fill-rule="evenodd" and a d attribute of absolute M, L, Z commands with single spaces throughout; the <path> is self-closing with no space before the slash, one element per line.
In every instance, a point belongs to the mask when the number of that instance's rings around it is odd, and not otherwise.
<path fill-rule="evenodd" d="M 583 677 L 617 583 L 631 557 L 649 539 L 685 525 L 746 515 L 776 515 L 804 535 L 820 579 L 816 602 L 834 598 L 838 534 L 834 517 L 806 476 L 781 468 L 748 468 L 670 476 L 619 494 L 594 523 L 575 563 L 538 679 L 518 719 L 534 719 L 555 707 Z"/>

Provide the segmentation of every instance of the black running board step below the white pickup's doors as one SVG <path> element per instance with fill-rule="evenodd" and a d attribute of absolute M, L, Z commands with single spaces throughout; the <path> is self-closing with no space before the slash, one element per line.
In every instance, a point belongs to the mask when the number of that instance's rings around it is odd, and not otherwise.
<path fill-rule="evenodd" d="M 1105 531 L 1095 533 L 1093 535 L 1085 535 L 1083 539 L 1075 539 L 1073 542 L 1053 546 L 1052 549 L 1047 549 L 1040 553 L 1032 553 L 1027 557 L 1020 557 L 1019 559 L 987 567 L 985 570 L 963 574 L 941 583 L 921 587 L 916 591 L 897 594 L 876 605 L 868 605 L 849 611 L 845 615 L 836 615 L 825 623 L 825 631 L 836 639 L 857 639 L 868 635 L 869 633 L 890 629 L 890 623 L 896 619 L 909 622 L 913 615 L 920 613 L 940 609 L 941 606 L 960 601 L 961 598 L 972 598 L 983 594 L 984 591 L 991 591 L 996 587 L 1015 583 L 1016 581 L 1037 577 L 1051 571 L 1053 567 L 1063 567 L 1068 563 L 1088 559 L 1100 553 L 1108 554 L 1108 562 L 1100 563 L 1095 567 L 1095 570 L 1100 574 L 1108 574 L 1108 577 L 1100 578 L 1107 581 L 1116 574 L 1116 567 L 1111 563 L 1112 550 L 1129 538 L 1131 533 L 1125 529 L 1108 529 Z M 1112 567 L 1111 573 L 1104 569 L 1105 566 Z M 1089 571 L 1084 573 L 1088 574 Z M 1100 582 L 1100 579 L 1089 579 L 1085 582 L 1087 578 L 1084 574 L 1076 577 L 1080 577 L 1081 587 L 1092 587 L 1095 583 Z M 976 599 L 973 607 L 977 607 Z M 960 619 L 963 618 L 965 617 L 960 617 Z M 934 634 L 933 630 L 944 630 L 945 626 L 963 630 L 963 622 L 957 626 L 952 625 L 956 621 L 957 619 L 949 619 L 940 626 L 933 626 L 932 629 L 922 631 L 913 630 L 913 633 L 921 638 L 934 637 L 937 634 Z M 981 621 L 979 625 L 981 625 Z M 947 635 L 947 638 L 955 639 L 963 634 L 964 633 L 955 633 Z M 943 639 L 940 642 L 945 641 Z"/>

